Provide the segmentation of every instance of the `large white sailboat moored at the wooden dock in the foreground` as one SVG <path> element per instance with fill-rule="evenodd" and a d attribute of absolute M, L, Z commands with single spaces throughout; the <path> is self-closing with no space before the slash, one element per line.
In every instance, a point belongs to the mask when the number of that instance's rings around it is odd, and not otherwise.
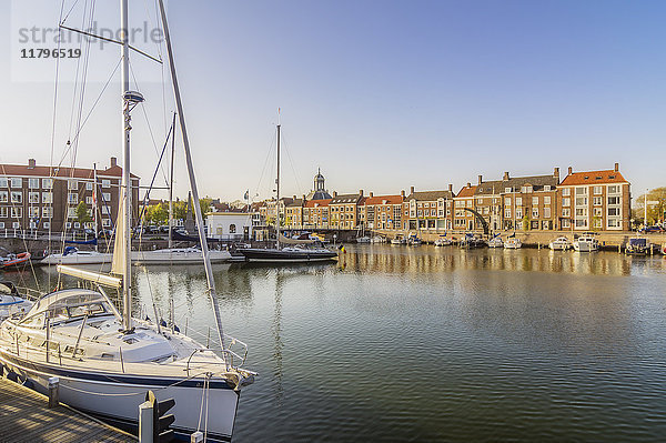
<path fill-rule="evenodd" d="M 180 89 L 163 1 L 159 0 L 163 34 L 169 54 L 171 79 L 183 133 L 185 159 L 192 193 L 198 201 L 190 143 L 185 131 Z M 121 2 L 121 30 L 128 30 L 128 0 Z M 101 273 L 60 265 L 59 270 L 94 285 L 64 289 L 34 303 L 22 318 L 0 324 L 0 364 L 41 392 L 49 379 L 59 377 L 60 400 L 73 407 L 114 422 L 135 425 L 139 405 L 152 390 L 159 400 L 172 397 L 175 416 L 171 429 L 189 439 L 204 431 L 208 441 L 230 441 L 241 390 L 254 381 L 255 373 L 242 369 L 246 346 L 222 331 L 215 283 L 208 260 L 208 244 L 201 242 L 203 262 L 218 326 L 221 355 L 178 332 L 148 320 L 133 319 L 132 268 L 130 260 L 131 110 L 143 98 L 129 90 L 128 33 L 120 34 L 123 87 L 123 177 L 121 211 L 113 255 L 113 273 Z M 199 235 L 204 239 L 201 209 L 195 207 Z M 119 312 L 102 286 L 122 292 Z M 157 311 L 157 309 L 155 309 Z M 155 312 L 157 320 L 157 312 Z M 234 352 L 232 346 L 239 352 Z M 205 423 L 205 429 L 203 427 Z"/>

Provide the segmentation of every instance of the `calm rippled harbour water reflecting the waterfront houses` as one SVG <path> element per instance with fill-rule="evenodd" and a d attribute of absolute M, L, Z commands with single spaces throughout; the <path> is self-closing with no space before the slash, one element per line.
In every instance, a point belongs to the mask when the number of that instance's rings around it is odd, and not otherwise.
<path fill-rule="evenodd" d="M 203 270 L 137 270 L 137 309 L 173 298 L 181 330 L 208 333 Z M 236 443 L 666 435 L 660 255 L 364 245 L 215 278 L 225 332 L 260 373 Z"/>

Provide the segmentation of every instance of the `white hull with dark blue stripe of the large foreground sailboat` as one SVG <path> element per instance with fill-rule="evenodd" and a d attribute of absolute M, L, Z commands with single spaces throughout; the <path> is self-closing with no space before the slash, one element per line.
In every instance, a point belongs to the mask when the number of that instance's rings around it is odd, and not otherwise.
<path fill-rule="evenodd" d="M 125 425 L 138 425 L 139 405 L 145 401 L 147 392 L 152 390 L 158 400 L 175 400 L 175 406 L 168 413 L 175 416 L 171 429 L 176 433 L 189 439 L 198 430 L 203 432 L 208 407 L 209 441 L 231 441 L 240 392 L 223 381 L 211 381 L 208 405 L 204 400 L 199 427 L 202 394 L 205 392 L 203 377 L 182 382 L 182 379 L 62 370 L 56 364 L 36 363 L 6 351 L 0 349 L 0 362 L 19 374 L 21 380 L 30 381 L 37 391 L 47 394 L 49 377 L 58 376 L 60 401 L 81 411 Z"/>

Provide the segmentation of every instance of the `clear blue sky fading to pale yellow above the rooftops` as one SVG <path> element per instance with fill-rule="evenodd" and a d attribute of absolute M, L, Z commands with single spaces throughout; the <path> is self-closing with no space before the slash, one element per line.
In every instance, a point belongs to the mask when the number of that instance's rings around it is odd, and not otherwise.
<path fill-rule="evenodd" d="M 60 2 L 34 3 L 42 4 L 37 26 L 58 21 Z M 112 3 L 98 7 L 99 21 L 118 27 Z M 132 20 L 154 11 L 152 0 L 131 3 Z M 10 29 L 10 4 L 0 12 Z M 234 200 L 250 189 L 270 197 L 278 108 L 284 194 L 306 193 L 317 167 L 339 192 L 450 182 L 457 190 L 478 174 L 559 167 L 564 177 L 569 165 L 614 162 L 634 195 L 666 185 L 664 1 L 172 0 L 169 16 L 202 194 Z M 47 163 L 53 84 L 12 82 L 17 48 L 0 43 L 0 161 Z M 115 63 L 117 49 L 102 52 L 91 57 L 98 81 L 84 109 Z M 162 89 L 151 80 L 160 69 L 147 61 L 135 69 L 161 144 Z M 120 157 L 118 88 L 84 128 L 78 164 Z M 57 152 L 72 100 L 71 87 L 60 91 Z M 133 172 L 147 182 L 157 154 L 139 113 L 133 132 Z M 186 184 L 179 174 L 179 194 Z"/>

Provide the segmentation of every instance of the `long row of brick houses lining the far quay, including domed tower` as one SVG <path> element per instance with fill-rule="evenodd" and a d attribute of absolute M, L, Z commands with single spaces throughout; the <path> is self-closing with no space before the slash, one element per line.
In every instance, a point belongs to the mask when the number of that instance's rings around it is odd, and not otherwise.
<path fill-rule="evenodd" d="M 284 198 L 255 203 L 254 230 L 275 222 L 292 230 L 575 230 L 626 231 L 630 228 L 630 184 L 613 169 L 575 172 L 568 168 L 561 180 L 559 169 L 543 175 L 512 177 L 453 185 L 435 191 L 408 193 L 329 195 L 323 177 L 315 175 L 319 198 Z M 312 193 L 311 193 L 312 194 Z M 485 225 L 485 226 L 484 226 Z"/>

